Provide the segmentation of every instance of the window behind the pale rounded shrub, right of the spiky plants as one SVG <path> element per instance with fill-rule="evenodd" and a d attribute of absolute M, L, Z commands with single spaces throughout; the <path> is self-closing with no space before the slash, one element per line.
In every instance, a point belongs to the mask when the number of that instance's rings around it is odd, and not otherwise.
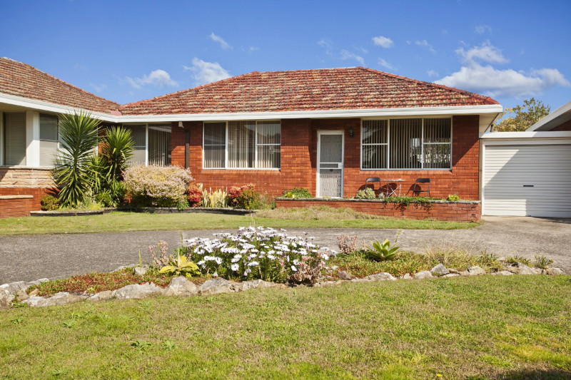
<path fill-rule="evenodd" d="M 133 157 L 129 165 L 171 165 L 171 125 L 123 125 L 131 130 Z"/>

